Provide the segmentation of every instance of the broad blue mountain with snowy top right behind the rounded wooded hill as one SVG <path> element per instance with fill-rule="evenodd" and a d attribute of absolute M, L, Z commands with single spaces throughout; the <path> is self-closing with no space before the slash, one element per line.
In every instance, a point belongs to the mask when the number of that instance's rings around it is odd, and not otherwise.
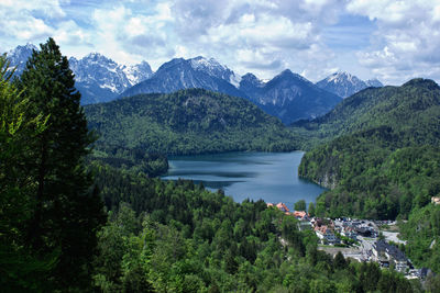
<path fill-rule="evenodd" d="M 128 89 L 121 97 L 199 88 L 245 98 L 245 94 L 233 86 L 239 80 L 232 70 L 212 58 L 175 58 L 163 64 L 150 79 Z"/>

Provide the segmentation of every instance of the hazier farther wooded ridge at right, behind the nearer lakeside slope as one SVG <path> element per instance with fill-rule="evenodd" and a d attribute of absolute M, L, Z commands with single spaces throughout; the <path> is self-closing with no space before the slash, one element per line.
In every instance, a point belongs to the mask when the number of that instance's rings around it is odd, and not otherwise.
<path fill-rule="evenodd" d="M 301 149 L 382 126 L 398 134 L 397 142 L 393 142 L 397 147 L 439 145 L 439 86 L 420 78 L 402 87 L 369 88 L 344 99 L 321 117 L 293 124 L 292 131 L 307 136 L 301 139 Z"/>

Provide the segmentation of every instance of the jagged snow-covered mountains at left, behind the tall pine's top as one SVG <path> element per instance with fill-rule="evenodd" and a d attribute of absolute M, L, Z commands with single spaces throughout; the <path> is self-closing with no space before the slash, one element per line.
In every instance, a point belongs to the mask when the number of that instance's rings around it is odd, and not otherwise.
<path fill-rule="evenodd" d="M 33 49 L 37 47 L 28 44 L 8 53 L 11 66 L 16 66 L 16 75 L 23 72 Z M 70 57 L 69 65 L 75 74 L 75 86 L 81 92 L 82 104 L 114 100 L 128 88 L 153 75 L 146 61 L 134 66 L 119 65 L 99 53 L 90 53 L 81 59 Z"/>

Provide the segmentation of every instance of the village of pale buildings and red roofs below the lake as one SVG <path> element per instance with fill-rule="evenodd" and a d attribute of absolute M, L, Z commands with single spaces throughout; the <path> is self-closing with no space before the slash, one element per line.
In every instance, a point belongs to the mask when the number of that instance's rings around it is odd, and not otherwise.
<path fill-rule="evenodd" d="M 410 259 L 399 249 L 406 241 L 400 240 L 396 222 L 358 218 L 320 218 L 305 211 L 293 211 L 284 203 L 267 203 L 286 215 L 296 217 L 298 229 L 314 230 L 319 238 L 320 250 L 333 257 L 341 252 L 344 258 L 360 262 L 373 261 L 381 268 L 391 268 L 405 274 L 407 279 L 425 279 L 427 268 L 415 269 Z M 386 228 L 384 228 L 386 227 Z"/>

